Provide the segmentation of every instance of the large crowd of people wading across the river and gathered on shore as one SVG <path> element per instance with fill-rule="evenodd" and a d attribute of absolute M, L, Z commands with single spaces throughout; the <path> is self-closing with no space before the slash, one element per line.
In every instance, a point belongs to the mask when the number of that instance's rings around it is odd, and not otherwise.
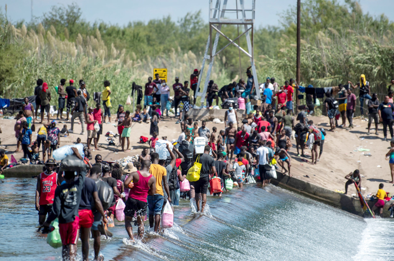
<path fill-rule="evenodd" d="M 100 150 L 98 142 L 102 134 L 102 125 L 111 123 L 110 82 L 104 81 L 104 90 L 101 94 L 95 93 L 93 96 L 95 106 L 92 107 L 88 105 L 92 101 L 90 101 L 91 97 L 83 80 L 79 81 L 79 89 L 77 89 L 74 87 L 73 80 L 69 80 L 69 85 L 65 87 L 66 79 L 61 79 L 57 87 L 59 95 L 57 119 L 51 121 L 51 91 L 45 82 L 41 79 L 37 80 L 37 86 L 34 88 L 35 109 L 29 102 L 29 98 L 25 98 L 25 104 L 16 117 L 14 130 L 17 138 L 17 151 L 21 146 L 24 153 L 23 159 L 29 159 L 31 163 L 39 161 L 40 149 L 42 161 L 45 162 L 48 159 L 45 163 L 45 170 L 37 177 L 35 208 L 39 214 L 40 225 L 49 227 L 54 219 L 59 219 L 64 259 L 75 258 L 78 236 L 82 240 L 83 259 L 88 259 L 90 230 L 94 238 L 95 260 L 102 259 L 99 257 L 100 235 L 110 235 L 107 223 L 108 220 L 114 219 L 115 205 L 118 200 L 123 200 L 126 204 L 125 228 L 130 239 L 133 240 L 132 223 L 138 227 L 137 237 L 142 238 L 146 215 L 150 228 L 154 232 L 161 231 L 161 214 L 166 202 L 177 206 L 180 198 L 189 197 L 196 201 L 197 212 L 203 213 L 210 179 L 213 176 L 219 177 L 221 182 L 221 192 L 215 193 L 216 196 L 222 196 L 222 193 L 227 190 L 225 185 L 227 180 L 231 180 L 236 186 L 242 188 L 244 183 L 254 183 L 256 178 L 264 187 L 274 178 L 276 170 L 281 170 L 292 177 L 292 157 L 289 150 L 293 149 L 294 140 L 297 157 L 304 158 L 304 161 L 308 162 L 309 157 L 305 156 L 304 150 L 309 149 L 311 150 L 310 163 L 317 164 L 320 161 L 327 133 L 325 129 L 315 126 L 312 120 L 308 120 L 308 117 L 316 112 L 316 97 L 321 94 L 321 90 L 317 90 L 318 88 L 314 90 L 312 85 L 306 88 L 299 86 L 293 79 L 285 81 L 284 85 L 280 86 L 273 77 L 267 77 L 265 83 L 255 86 L 249 69 L 250 67 L 246 72 L 246 81 L 240 79 L 222 88 L 218 88 L 213 80 L 208 84 L 207 108 L 212 107 L 215 100 L 216 105 L 219 105 L 219 98 L 222 99 L 222 103 L 231 98 L 243 99 L 246 105 L 247 113 L 244 115 L 239 115 L 237 108 L 232 105 L 226 108 L 222 130 L 213 127 L 211 131 L 205 121 L 202 121 L 199 126 L 199 122 L 189 117 L 189 109 L 196 104 L 195 96 L 190 98 L 190 95 L 191 91 L 195 94 L 199 91 L 197 82 L 200 72 L 195 69 L 190 76 L 190 82 L 184 81 L 183 84 L 180 83 L 179 77 L 175 77 L 175 83 L 172 85 L 173 105 L 175 118 L 178 119 L 176 123 L 181 127 L 181 134 L 172 149 L 167 145 L 169 157 L 166 160 L 159 159 L 159 154 L 155 152 L 155 144 L 159 136 L 159 122 L 164 117 L 168 117 L 172 106 L 168 105 L 170 91 L 166 82 L 160 79 L 158 74 L 155 75 L 154 80 L 149 77 L 145 84 L 143 104 L 140 104 L 142 98 L 138 98 L 136 110 L 133 113 L 129 110 L 125 111 L 122 105 L 118 106 L 116 112 L 115 121 L 122 150 L 125 150 L 126 146 L 126 152 L 130 151 L 132 122 L 150 123 L 149 133 L 152 136 L 148 139 L 150 149 L 144 148 L 138 161 L 128 163 L 123 167 L 117 163 L 103 162 L 100 155 L 96 155 L 94 164 L 90 163 L 92 141 L 94 149 Z M 256 98 L 256 88 L 259 88 L 261 97 Z M 326 96 L 324 109 L 330 119 L 331 131 L 336 127 L 347 128 L 347 130 L 353 128 L 357 98 L 352 90 L 360 88 L 361 115 L 364 115 L 362 108 L 364 99 L 368 99 L 367 134 L 370 134 L 372 121 L 375 123 L 375 133 L 378 134 L 377 127 L 380 121 L 383 122 L 384 139 L 387 139 L 387 127 L 393 138 L 394 92 L 392 90 L 383 102 L 379 102 L 376 94 L 370 94 L 369 83 L 364 75 L 361 75 L 360 83 L 356 85 L 349 81 L 346 86 L 340 84 L 329 88 L 331 89 L 325 90 L 323 94 Z M 305 94 L 305 105 L 297 108 L 299 111 L 297 115 L 294 114 L 295 104 L 293 103 L 296 90 Z M 252 101 L 256 101 L 254 102 L 256 105 L 252 105 Z M 66 119 L 63 118 L 65 107 Z M 34 124 L 37 122 L 38 109 L 41 112 L 40 124 L 42 126 L 37 128 L 37 136 L 33 140 L 32 133 L 35 131 Z M 47 121 L 43 122 L 45 117 Z M 337 123 L 339 117 L 342 117 L 340 126 Z M 57 121 L 68 121 L 69 118 L 71 119 L 70 129 L 64 125 L 60 130 L 57 127 Z M 60 146 L 61 135 L 67 136 L 74 132 L 77 118 L 82 127 L 81 135 L 85 134 L 86 124 L 87 139 L 84 147 L 85 157 L 79 155 L 76 150 L 74 154 L 86 163 L 87 170 L 62 172 L 59 170 L 59 164 L 51 159 L 51 155 Z M 191 156 L 177 149 L 179 146 L 186 146 L 185 144 L 193 145 L 196 138 L 200 137 L 205 139 L 206 144 L 203 153 L 192 152 L 193 156 Z M 166 140 L 167 137 L 162 138 Z M 77 143 L 80 142 L 79 139 Z M 394 143 L 392 147 L 394 148 Z M 392 156 L 394 158 L 393 149 L 390 150 L 388 156 L 392 178 L 394 178 L 394 159 L 393 161 L 391 159 Z M 190 182 L 190 191 L 181 192 L 180 184 L 187 180 L 188 170 L 195 163 L 201 164 L 199 179 Z M 1 151 L 0 164 L 0 172 L 9 165 L 7 156 Z M 361 176 L 358 171 L 345 178 L 348 179 L 345 185 L 346 192 L 352 182 L 356 182 L 361 187 Z M 114 197 L 107 209 L 103 208 L 98 196 L 98 180 L 107 183 L 113 189 Z M 377 197 L 382 197 L 381 194 L 383 192 L 378 192 Z"/>

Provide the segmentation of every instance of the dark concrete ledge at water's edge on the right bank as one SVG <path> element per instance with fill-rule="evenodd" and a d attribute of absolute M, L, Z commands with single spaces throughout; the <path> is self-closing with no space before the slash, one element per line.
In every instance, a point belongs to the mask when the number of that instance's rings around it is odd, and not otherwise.
<path fill-rule="evenodd" d="M 364 214 L 364 210 L 361 208 L 359 198 L 354 198 L 341 193 L 330 191 L 328 189 L 305 182 L 303 180 L 299 180 L 294 177 L 290 178 L 288 175 L 283 175 L 279 172 L 277 172 L 277 179 L 272 179 L 271 183 L 284 189 L 319 200 L 323 203 L 327 203 L 331 206 L 340 208 L 352 214 L 359 216 L 362 216 Z M 366 201 L 370 208 L 372 208 L 372 206 L 376 202 L 370 201 L 369 199 L 367 199 Z M 390 216 L 390 212 L 388 212 L 389 206 L 390 202 L 386 202 L 385 207 L 383 208 L 384 217 Z"/>

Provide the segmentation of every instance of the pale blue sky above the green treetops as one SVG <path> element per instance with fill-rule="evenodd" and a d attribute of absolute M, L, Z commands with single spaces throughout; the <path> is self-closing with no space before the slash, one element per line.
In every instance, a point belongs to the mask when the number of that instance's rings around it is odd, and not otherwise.
<path fill-rule="evenodd" d="M 338 1 L 344 2 L 344 0 Z M 151 19 L 161 19 L 167 15 L 177 21 L 186 13 L 198 10 L 201 10 L 201 16 L 206 22 L 209 16 L 209 0 L 33 0 L 33 15 L 42 16 L 52 5 L 66 6 L 72 2 L 76 2 L 81 7 L 82 18 L 86 21 L 103 21 L 120 26 L 132 21 L 147 22 Z M 215 3 L 216 0 L 213 2 Z M 228 8 L 235 7 L 235 0 L 228 2 Z M 372 16 L 385 13 L 391 21 L 394 21 L 394 0 L 359 0 L 359 2 L 363 12 L 368 12 Z M 251 3 L 251 0 L 245 0 L 245 4 L 248 3 Z M 5 4 L 7 4 L 9 20 L 30 21 L 31 0 L 0 0 L 3 11 Z M 279 14 L 295 5 L 296 0 L 256 0 L 255 26 L 279 26 Z"/>

